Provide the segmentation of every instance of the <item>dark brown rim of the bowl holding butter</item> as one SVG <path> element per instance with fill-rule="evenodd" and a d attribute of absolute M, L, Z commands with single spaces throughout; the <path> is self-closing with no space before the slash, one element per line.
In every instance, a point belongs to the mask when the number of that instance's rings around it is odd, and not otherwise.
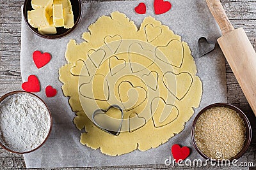
<path fill-rule="evenodd" d="M 24 20 L 26 22 L 26 25 L 28 25 L 28 27 L 29 27 L 29 29 L 31 31 L 33 31 L 36 35 L 38 35 L 38 36 L 40 36 L 42 38 L 46 38 L 46 39 L 59 39 L 59 38 L 63 38 L 65 36 L 67 36 L 70 32 L 72 32 L 76 28 L 76 26 L 78 25 L 78 23 L 80 22 L 80 20 L 82 18 L 82 3 L 81 3 L 81 0 L 77 0 L 77 1 L 78 1 L 78 4 L 79 4 L 79 15 L 78 15 L 78 18 L 77 18 L 74 26 L 72 28 L 68 29 L 63 34 L 51 36 L 51 35 L 40 34 L 39 32 L 36 32 L 36 31 L 33 30 L 34 28 L 29 24 L 28 16 L 26 15 L 26 6 L 27 6 L 27 4 L 29 2 L 31 2 L 31 0 L 25 0 L 24 5 L 23 5 L 23 17 L 24 17 Z"/>

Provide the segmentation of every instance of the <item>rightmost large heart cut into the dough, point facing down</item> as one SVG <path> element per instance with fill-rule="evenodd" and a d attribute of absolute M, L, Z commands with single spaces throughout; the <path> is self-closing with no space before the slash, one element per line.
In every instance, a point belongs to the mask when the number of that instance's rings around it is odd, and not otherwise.
<path fill-rule="evenodd" d="M 193 77 L 187 72 L 174 74 L 173 72 L 166 72 L 163 76 L 165 87 L 176 97 L 179 101 L 182 100 L 193 83 Z"/>

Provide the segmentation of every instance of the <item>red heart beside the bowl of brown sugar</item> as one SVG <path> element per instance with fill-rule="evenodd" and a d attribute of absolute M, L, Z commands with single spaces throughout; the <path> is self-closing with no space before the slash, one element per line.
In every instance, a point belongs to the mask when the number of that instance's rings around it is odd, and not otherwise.
<path fill-rule="evenodd" d="M 175 144 L 172 146 L 172 155 L 176 162 L 184 160 L 189 155 L 189 148 L 187 146 L 180 148 L 180 145 Z"/>

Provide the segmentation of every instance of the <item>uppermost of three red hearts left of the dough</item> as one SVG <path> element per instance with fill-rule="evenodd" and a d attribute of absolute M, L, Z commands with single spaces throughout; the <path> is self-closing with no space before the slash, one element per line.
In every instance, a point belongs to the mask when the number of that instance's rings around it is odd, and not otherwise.
<path fill-rule="evenodd" d="M 33 52 L 33 60 L 36 64 L 36 67 L 40 69 L 41 67 L 44 67 L 51 60 L 51 54 L 35 51 Z"/>

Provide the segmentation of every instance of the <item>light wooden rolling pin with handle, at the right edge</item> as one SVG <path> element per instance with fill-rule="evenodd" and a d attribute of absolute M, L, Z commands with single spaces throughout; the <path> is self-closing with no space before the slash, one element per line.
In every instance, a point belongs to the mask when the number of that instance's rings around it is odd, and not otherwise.
<path fill-rule="evenodd" d="M 234 29 L 220 0 L 206 0 L 223 36 L 218 43 L 256 115 L 256 53 L 243 28 Z"/>

